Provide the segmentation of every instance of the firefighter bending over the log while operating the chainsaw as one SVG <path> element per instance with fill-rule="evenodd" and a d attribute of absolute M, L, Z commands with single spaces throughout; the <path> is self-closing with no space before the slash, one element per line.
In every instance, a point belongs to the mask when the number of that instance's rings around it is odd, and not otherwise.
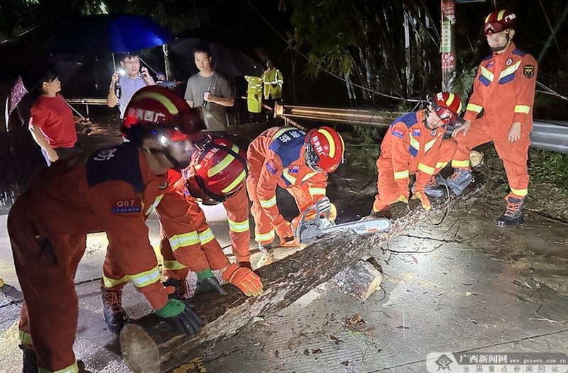
<path fill-rule="evenodd" d="M 263 252 L 262 265 L 273 260 L 275 234 L 280 245 L 297 245 L 292 226 L 276 206 L 276 187 L 295 199 L 300 214 L 324 198 L 327 174 L 344 160 L 344 142 L 336 130 L 320 127 L 307 134 L 293 127 L 265 130 L 249 145 L 249 178 L 246 189 L 252 201 L 255 240 Z M 334 206 L 331 220 L 335 219 Z"/>

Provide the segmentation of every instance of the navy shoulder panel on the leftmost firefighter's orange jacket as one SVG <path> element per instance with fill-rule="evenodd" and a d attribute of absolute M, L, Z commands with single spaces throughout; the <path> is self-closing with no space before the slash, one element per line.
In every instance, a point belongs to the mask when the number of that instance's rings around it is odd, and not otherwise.
<path fill-rule="evenodd" d="M 138 160 L 138 147 L 124 143 L 100 149 L 87 160 L 87 183 L 94 187 L 102 182 L 121 181 L 132 185 L 136 193 L 146 188 Z"/>

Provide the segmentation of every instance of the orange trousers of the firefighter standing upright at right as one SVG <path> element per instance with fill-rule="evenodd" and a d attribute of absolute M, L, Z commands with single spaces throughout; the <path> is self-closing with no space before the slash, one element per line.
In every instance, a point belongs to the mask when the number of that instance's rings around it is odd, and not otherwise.
<path fill-rule="evenodd" d="M 510 187 L 510 195 L 521 199 L 528 194 L 528 147 L 530 145 L 530 130 L 523 130 L 520 139 L 509 143 L 507 138 L 492 138 L 488 128 L 481 125 L 481 120 L 471 123 L 467 134 L 459 133 L 456 155 L 452 159 L 452 167 L 465 168 L 469 162 L 469 153 L 474 147 L 493 141 L 498 156 L 503 161 Z"/>

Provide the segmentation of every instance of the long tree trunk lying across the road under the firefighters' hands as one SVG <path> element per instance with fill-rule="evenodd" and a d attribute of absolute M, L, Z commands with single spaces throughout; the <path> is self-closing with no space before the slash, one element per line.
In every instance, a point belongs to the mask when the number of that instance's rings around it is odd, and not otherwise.
<path fill-rule="evenodd" d="M 479 178 L 478 178 L 479 187 Z M 468 188 L 464 196 L 479 188 Z M 258 269 L 264 294 L 250 298 L 224 285 L 226 296 L 205 293 L 192 301 L 204 326 L 195 336 L 179 335 L 157 316 L 149 315 L 127 324 L 120 335 L 126 364 L 136 373 L 170 372 L 200 356 L 215 341 L 235 335 L 255 316 L 268 316 L 292 304 L 315 286 L 327 282 L 347 265 L 364 257 L 416 223 L 444 211 L 457 200 L 433 200 L 432 210 L 425 211 L 417 200 L 395 204 L 388 211 L 393 228 L 388 233 L 359 236 L 352 231 L 334 233 L 283 260 Z M 371 197 L 370 197 L 371 198 Z M 278 250 L 278 249 L 277 249 Z"/>

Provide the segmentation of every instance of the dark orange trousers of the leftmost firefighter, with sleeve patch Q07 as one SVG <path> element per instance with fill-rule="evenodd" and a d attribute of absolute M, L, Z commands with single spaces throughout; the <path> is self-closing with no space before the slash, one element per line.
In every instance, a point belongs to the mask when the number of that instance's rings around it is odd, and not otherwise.
<path fill-rule="evenodd" d="M 38 366 L 50 372 L 69 369 L 75 362 L 73 342 L 77 331 L 79 301 L 75 291 L 75 272 L 84 253 L 86 235 L 62 235 L 33 221 L 31 194 L 18 197 L 8 218 L 8 231 L 16 274 L 25 303 L 20 319 L 20 339 L 33 347 Z M 39 255 L 40 247 L 32 226 L 48 238 L 57 264 Z"/>

